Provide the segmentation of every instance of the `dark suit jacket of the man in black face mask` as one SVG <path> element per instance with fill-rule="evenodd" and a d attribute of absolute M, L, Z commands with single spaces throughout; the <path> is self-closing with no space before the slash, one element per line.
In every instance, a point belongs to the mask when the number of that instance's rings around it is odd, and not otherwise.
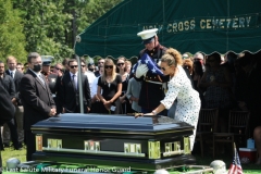
<path fill-rule="evenodd" d="M 45 77 L 42 76 L 45 80 Z M 22 77 L 20 95 L 24 105 L 24 129 L 30 129 L 35 123 L 49 117 L 51 108 L 55 108 L 51 91 L 30 70 Z"/>

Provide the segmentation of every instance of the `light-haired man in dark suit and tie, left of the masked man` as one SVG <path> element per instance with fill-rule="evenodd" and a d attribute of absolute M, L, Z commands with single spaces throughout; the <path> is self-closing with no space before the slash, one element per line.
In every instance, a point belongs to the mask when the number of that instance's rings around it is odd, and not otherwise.
<path fill-rule="evenodd" d="M 16 121 L 17 134 L 18 134 L 18 147 L 21 148 L 24 141 L 24 129 L 23 129 L 23 120 L 24 120 L 24 108 L 20 100 L 20 82 L 23 77 L 23 73 L 16 70 L 17 60 L 16 58 L 10 55 L 7 59 L 7 64 L 9 70 L 5 71 L 8 75 L 13 78 L 15 85 L 15 98 L 14 98 L 14 105 L 15 105 L 15 114 L 14 119 Z M 7 126 L 3 126 L 3 144 L 9 145 L 10 142 L 10 132 Z"/>

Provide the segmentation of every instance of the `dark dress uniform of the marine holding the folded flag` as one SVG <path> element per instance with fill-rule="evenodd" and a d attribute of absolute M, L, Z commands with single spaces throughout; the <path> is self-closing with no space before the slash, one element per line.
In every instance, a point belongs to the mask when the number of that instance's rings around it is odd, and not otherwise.
<path fill-rule="evenodd" d="M 166 48 L 158 45 L 153 50 L 149 51 L 144 49 L 139 53 L 139 59 L 144 53 L 150 55 L 152 61 L 158 63 L 161 57 L 165 53 Z M 146 76 L 141 76 L 137 78 L 137 80 L 141 80 L 141 89 L 139 95 L 138 104 L 146 110 L 153 110 L 160 104 L 160 101 L 165 97 L 163 84 L 170 80 L 170 76 L 160 76 L 148 72 Z"/>

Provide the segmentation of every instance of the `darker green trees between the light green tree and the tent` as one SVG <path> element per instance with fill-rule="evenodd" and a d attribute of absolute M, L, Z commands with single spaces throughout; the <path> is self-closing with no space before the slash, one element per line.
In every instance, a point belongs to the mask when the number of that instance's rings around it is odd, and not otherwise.
<path fill-rule="evenodd" d="M 75 37 L 122 0 L 12 0 L 21 11 L 26 50 L 62 61 L 73 53 Z"/>

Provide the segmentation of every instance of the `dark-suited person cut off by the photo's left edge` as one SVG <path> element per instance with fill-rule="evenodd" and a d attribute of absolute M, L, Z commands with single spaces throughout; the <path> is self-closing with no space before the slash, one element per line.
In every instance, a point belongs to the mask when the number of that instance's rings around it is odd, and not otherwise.
<path fill-rule="evenodd" d="M 3 88 L 0 84 L 0 126 L 2 126 L 5 122 L 9 122 L 13 119 L 15 108 L 11 100 L 7 100 L 10 98 L 9 92 Z M 2 173 L 2 158 L 1 158 L 1 150 L 0 150 L 0 173 Z"/>

